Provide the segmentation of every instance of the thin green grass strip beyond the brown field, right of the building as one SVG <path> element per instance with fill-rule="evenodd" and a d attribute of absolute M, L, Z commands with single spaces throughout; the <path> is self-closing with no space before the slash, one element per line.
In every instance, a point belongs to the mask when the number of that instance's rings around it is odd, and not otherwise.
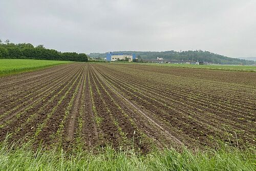
<path fill-rule="evenodd" d="M 189 64 L 174 64 L 174 63 L 139 63 L 141 65 L 161 66 L 161 67 L 180 67 L 180 68 L 196 68 L 210 70 L 225 70 L 225 71 L 246 71 L 256 72 L 256 66 L 232 66 L 232 65 L 189 65 Z"/>

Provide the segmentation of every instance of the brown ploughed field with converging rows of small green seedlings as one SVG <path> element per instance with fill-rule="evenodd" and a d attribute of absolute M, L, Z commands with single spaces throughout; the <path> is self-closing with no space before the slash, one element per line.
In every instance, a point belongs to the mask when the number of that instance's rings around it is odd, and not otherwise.
<path fill-rule="evenodd" d="M 70 63 L 0 78 L 0 138 L 148 153 L 255 145 L 256 73 Z"/>

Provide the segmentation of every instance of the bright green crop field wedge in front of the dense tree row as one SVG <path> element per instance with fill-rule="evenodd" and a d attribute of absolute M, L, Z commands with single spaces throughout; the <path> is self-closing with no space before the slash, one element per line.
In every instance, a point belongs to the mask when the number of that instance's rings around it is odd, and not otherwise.
<path fill-rule="evenodd" d="M 61 65 L 70 61 L 35 60 L 35 59 L 0 59 L 0 76 L 39 70 Z"/>

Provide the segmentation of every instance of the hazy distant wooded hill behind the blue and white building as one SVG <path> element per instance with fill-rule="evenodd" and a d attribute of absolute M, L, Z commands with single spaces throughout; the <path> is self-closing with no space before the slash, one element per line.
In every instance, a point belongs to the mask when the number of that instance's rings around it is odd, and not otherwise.
<path fill-rule="evenodd" d="M 157 57 L 163 57 L 164 59 L 171 60 L 190 60 L 190 61 L 205 61 L 219 64 L 229 64 L 229 65 L 253 65 L 256 62 L 252 60 L 230 58 L 227 56 L 211 53 L 208 51 L 164 51 L 164 52 L 140 52 L 140 51 L 116 51 L 113 53 L 127 53 L 136 54 L 139 59 L 156 59 Z M 91 53 L 89 57 L 93 58 L 104 58 L 106 53 Z"/>

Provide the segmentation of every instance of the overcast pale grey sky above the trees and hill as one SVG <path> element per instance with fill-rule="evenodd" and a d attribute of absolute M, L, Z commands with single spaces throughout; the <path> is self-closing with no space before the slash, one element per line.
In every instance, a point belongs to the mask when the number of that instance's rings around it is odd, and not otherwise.
<path fill-rule="evenodd" d="M 256 56 L 256 0 L 1 0 L 0 38 L 79 53 Z"/>

